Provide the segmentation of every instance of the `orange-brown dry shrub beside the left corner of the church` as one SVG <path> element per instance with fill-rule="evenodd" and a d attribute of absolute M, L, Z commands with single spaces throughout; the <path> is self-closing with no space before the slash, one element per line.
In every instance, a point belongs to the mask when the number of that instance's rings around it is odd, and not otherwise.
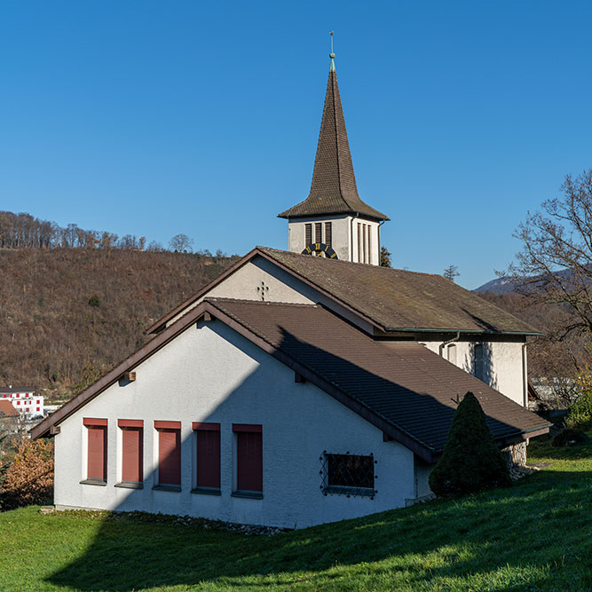
<path fill-rule="evenodd" d="M 0 504 L 14 509 L 53 499 L 53 440 L 26 440 L 6 471 Z"/>

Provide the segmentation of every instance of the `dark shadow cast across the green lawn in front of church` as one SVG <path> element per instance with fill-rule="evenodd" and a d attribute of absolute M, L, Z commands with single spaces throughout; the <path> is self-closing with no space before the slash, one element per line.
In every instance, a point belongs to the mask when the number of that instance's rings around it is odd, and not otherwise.
<path fill-rule="evenodd" d="M 49 581 L 80 590 L 424 588 L 438 579 L 458 589 L 590 589 L 591 493 L 592 471 L 541 472 L 508 490 L 275 536 L 107 517 Z"/>

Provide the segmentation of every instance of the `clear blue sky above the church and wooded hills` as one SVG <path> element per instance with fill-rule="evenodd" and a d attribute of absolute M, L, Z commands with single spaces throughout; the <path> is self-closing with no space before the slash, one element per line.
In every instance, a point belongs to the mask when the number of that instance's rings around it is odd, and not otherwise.
<path fill-rule="evenodd" d="M 243 254 L 308 194 L 328 31 L 394 264 L 467 288 L 592 167 L 587 2 L 0 4 L 0 209 Z"/>

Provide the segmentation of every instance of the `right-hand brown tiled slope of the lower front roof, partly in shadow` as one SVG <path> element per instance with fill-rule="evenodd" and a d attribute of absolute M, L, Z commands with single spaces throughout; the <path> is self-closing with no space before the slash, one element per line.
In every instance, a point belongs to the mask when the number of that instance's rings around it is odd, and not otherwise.
<path fill-rule="evenodd" d="M 206 302 L 431 454 L 444 449 L 457 397 L 467 391 L 477 397 L 497 440 L 549 427 L 546 420 L 419 343 L 376 342 L 318 304 L 225 298 Z"/>

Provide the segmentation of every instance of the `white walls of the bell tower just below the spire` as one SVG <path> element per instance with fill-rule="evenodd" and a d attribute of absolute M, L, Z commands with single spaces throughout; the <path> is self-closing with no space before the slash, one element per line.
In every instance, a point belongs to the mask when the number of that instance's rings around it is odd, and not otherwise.
<path fill-rule="evenodd" d="M 306 248 L 306 233 L 304 226 L 312 224 L 312 241 L 314 242 L 314 223 L 323 223 L 323 241 L 325 241 L 325 222 L 331 222 L 332 247 L 337 257 L 343 261 L 359 262 L 358 257 L 358 224 L 365 224 L 371 233 L 370 253 L 368 264 L 380 264 L 380 241 L 378 222 L 361 217 L 352 216 L 320 216 L 296 218 L 288 222 L 288 250 L 302 253 Z M 353 239 L 353 240 L 352 240 Z"/>

